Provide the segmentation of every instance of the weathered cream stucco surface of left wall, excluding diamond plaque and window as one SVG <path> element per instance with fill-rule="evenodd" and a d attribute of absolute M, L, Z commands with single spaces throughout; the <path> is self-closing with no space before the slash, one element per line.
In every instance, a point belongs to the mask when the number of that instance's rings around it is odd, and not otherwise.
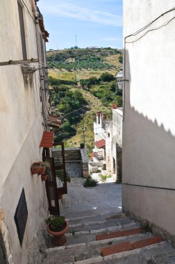
<path fill-rule="evenodd" d="M 38 58 L 35 23 L 30 1 L 24 1 L 24 24 L 27 57 Z M 19 15 L 16 0 L 0 0 L 0 58 L 2 61 L 22 60 Z M 32 17 L 33 19 L 32 19 Z M 12 258 L 15 263 L 27 263 L 28 245 L 40 222 L 47 217 L 47 200 L 40 176 L 31 175 L 31 165 L 41 160 L 42 138 L 39 73 L 26 81 L 20 65 L 0 66 L 0 207 L 8 229 Z M 22 247 L 19 245 L 14 221 L 15 210 L 24 188 L 28 220 Z"/>

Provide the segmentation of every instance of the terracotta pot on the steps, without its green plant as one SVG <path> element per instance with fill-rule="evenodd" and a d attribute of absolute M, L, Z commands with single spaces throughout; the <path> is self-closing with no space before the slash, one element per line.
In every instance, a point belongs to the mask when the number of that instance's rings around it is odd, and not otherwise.
<path fill-rule="evenodd" d="M 65 244 L 66 237 L 65 237 L 65 233 L 67 231 L 67 229 L 69 229 L 69 223 L 67 221 L 65 221 L 66 226 L 65 229 L 63 229 L 62 231 L 51 231 L 49 224 L 47 224 L 47 232 L 53 236 L 51 238 L 51 242 L 53 243 L 53 245 L 58 245 L 61 246 L 63 244 Z"/>

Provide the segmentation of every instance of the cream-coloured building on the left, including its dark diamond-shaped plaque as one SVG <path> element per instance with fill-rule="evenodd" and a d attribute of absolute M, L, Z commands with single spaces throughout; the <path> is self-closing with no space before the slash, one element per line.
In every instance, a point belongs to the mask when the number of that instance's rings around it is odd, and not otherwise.
<path fill-rule="evenodd" d="M 0 24 L 0 263 L 23 264 L 47 217 L 45 185 L 31 165 L 42 160 L 49 130 L 49 34 L 34 0 L 1 0 Z"/>

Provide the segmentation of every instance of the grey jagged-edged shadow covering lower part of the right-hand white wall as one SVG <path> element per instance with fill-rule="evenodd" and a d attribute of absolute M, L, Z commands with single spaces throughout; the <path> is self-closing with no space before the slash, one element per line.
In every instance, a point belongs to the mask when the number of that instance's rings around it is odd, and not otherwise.
<path fill-rule="evenodd" d="M 125 79 L 129 81 L 125 83 L 124 91 L 123 208 L 175 235 L 172 223 L 175 211 L 175 137 L 165 131 L 163 124 L 158 126 L 157 120 L 152 122 L 131 106 L 132 71 L 128 51 L 126 62 Z M 143 98 L 142 104 L 145 100 Z"/>

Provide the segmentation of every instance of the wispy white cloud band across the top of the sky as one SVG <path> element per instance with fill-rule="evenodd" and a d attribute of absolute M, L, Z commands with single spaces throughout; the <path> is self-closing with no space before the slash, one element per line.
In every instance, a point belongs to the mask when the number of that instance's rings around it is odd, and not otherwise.
<path fill-rule="evenodd" d="M 83 8 L 77 6 L 69 1 L 67 3 L 52 3 L 43 4 L 42 12 L 48 13 L 49 15 L 55 15 L 57 17 L 72 17 L 78 20 L 90 21 L 100 24 L 106 24 L 111 26 L 122 26 L 122 16 L 114 15 L 108 12 L 96 11 L 90 8 Z"/>

